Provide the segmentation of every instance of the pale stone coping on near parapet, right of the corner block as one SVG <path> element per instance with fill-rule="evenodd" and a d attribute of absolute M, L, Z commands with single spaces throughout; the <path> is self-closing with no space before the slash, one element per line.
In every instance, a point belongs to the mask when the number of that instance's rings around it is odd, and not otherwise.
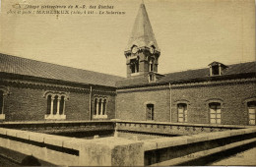
<path fill-rule="evenodd" d="M 173 137 L 173 138 L 162 138 L 162 139 L 145 139 L 144 141 L 144 150 L 154 150 L 165 147 L 183 145 L 188 143 L 195 143 L 205 140 L 213 140 L 213 139 L 223 139 L 228 137 L 234 137 L 245 134 L 256 133 L 256 128 L 248 128 L 241 130 L 230 130 L 224 132 L 215 132 L 208 134 L 199 134 L 199 135 L 190 135 L 183 137 Z"/>

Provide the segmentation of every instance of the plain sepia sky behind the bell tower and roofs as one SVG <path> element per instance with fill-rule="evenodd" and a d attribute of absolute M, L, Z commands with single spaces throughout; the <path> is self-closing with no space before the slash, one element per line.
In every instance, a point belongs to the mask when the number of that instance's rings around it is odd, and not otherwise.
<path fill-rule="evenodd" d="M 141 2 L 2 0 L 0 52 L 126 77 L 124 49 Z M 108 5 L 113 9 L 107 11 L 125 14 L 10 14 L 10 10 L 17 10 L 13 5 L 19 3 Z M 213 61 L 225 65 L 255 61 L 254 0 L 144 0 L 144 3 L 160 47 L 160 74 L 207 68 Z"/>

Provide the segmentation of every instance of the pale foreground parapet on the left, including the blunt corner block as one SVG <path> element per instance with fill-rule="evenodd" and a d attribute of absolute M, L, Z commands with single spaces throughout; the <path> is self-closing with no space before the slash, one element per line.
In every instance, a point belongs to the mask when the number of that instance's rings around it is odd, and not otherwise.
<path fill-rule="evenodd" d="M 140 141 L 113 137 L 75 139 L 5 128 L 0 128 L 0 154 L 7 156 L 9 154 L 18 164 L 27 155 L 39 159 L 42 165 L 142 166 L 144 164 L 143 142 Z"/>

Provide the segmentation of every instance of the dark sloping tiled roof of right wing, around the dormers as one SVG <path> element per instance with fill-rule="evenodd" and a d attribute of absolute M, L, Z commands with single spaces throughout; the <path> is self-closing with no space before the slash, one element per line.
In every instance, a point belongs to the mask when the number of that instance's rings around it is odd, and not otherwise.
<path fill-rule="evenodd" d="M 160 78 L 157 83 L 149 83 L 148 78 L 133 78 L 118 81 L 116 83 L 117 87 L 127 87 L 135 85 L 150 85 L 159 83 L 184 83 L 184 82 L 194 82 L 200 80 L 214 80 L 216 77 L 218 79 L 229 79 L 229 77 L 242 76 L 245 74 L 252 74 L 256 78 L 256 62 L 247 62 L 240 64 L 228 65 L 227 69 L 224 71 L 222 76 L 210 77 L 209 68 L 188 70 L 183 72 L 175 72 L 165 74 L 164 77 Z M 216 78 L 216 79 L 217 79 Z"/>

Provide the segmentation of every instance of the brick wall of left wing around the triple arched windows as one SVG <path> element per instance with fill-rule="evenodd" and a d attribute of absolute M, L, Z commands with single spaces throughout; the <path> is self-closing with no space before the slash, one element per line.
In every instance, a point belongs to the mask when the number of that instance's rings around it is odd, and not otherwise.
<path fill-rule="evenodd" d="M 4 121 L 45 121 L 47 100 L 43 94 L 47 90 L 42 88 L 28 88 L 25 86 L 8 86 L 10 94 L 4 96 Z M 66 120 L 90 120 L 90 92 L 65 91 Z M 97 93 L 100 94 L 100 93 Z M 115 118 L 115 95 L 104 93 L 108 98 L 108 119 Z"/>

